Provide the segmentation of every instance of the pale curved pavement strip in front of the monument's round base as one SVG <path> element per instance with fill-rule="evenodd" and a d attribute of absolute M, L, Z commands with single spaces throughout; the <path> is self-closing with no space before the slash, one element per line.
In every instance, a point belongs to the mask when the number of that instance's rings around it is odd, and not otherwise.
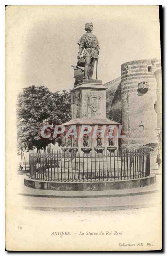
<path fill-rule="evenodd" d="M 153 207 L 160 204 L 160 193 L 112 197 L 112 198 L 42 198 L 25 197 L 23 207 L 29 210 L 44 211 L 99 211 L 123 210 Z"/>

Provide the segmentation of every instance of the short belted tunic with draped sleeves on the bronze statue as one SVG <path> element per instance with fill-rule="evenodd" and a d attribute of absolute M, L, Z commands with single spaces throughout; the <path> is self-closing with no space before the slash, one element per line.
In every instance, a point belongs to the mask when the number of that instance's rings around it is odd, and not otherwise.
<path fill-rule="evenodd" d="M 78 41 L 79 48 L 85 48 L 83 57 L 99 59 L 97 51 L 99 51 L 99 43 L 97 37 L 92 33 L 86 33 L 81 36 Z"/>

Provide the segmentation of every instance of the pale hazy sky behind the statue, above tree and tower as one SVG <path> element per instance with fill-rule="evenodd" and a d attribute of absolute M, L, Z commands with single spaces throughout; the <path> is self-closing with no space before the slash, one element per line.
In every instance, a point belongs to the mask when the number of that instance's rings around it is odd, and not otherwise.
<path fill-rule="evenodd" d="M 77 42 L 93 22 L 100 55 L 98 79 L 120 76 L 126 61 L 160 59 L 158 6 L 9 6 L 6 9 L 6 77 L 15 90 L 73 87 Z M 94 72 L 95 74 L 95 72 Z"/>

